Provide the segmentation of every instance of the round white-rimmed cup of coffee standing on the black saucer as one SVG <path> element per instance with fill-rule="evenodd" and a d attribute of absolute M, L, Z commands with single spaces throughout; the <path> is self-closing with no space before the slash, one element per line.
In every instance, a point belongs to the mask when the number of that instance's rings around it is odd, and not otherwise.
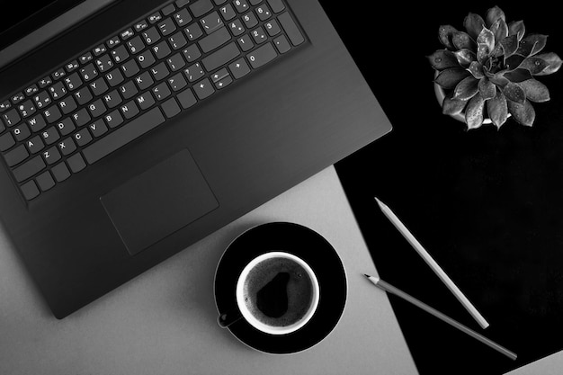
<path fill-rule="evenodd" d="M 262 281 L 264 284 L 268 279 L 268 276 L 264 275 L 268 272 L 280 272 L 279 275 L 283 269 L 288 269 L 288 267 L 291 271 L 283 272 L 284 275 L 285 273 L 288 274 L 286 278 L 288 280 L 286 281 L 287 313 L 281 317 L 267 317 L 257 309 L 256 300 L 249 300 L 254 299 L 255 296 L 248 294 L 253 288 L 264 288 L 264 285 L 256 284 L 256 280 Z M 301 270 L 304 274 L 300 273 Z M 260 277 L 262 277 L 262 280 L 259 279 Z M 299 279 L 299 277 L 302 279 Z M 267 282 L 268 285 L 270 285 L 270 281 Z M 296 291 L 291 294 L 291 290 Z M 246 264 L 237 280 L 237 307 L 242 317 L 251 326 L 270 335 L 287 335 L 305 326 L 317 310 L 319 296 L 320 288 L 317 276 L 308 263 L 294 254 L 281 251 L 255 257 L 250 263 Z"/>

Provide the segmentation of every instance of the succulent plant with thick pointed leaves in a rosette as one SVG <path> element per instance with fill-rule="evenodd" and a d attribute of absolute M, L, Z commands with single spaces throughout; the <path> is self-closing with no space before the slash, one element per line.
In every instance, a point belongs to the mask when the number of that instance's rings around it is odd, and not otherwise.
<path fill-rule="evenodd" d="M 524 36 L 523 21 L 506 23 L 505 13 L 495 6 L 485 19 L 469 13 L 463 22 L 466 31 L 442 25 L 438 36 L 445 49 L 428 60 L 436 70 L 434 83 L 446 93 L 444 114 L 464 114 L 468 129 L 477 129 L 485 116 L 497 129 L 508 113 L 525 126 L 532 126 L 532 103 L 550 100 L 548 87 L 536 76 L 553 74 L 561 58 L 553 52 L 540 53 L 547 35 Z"/>

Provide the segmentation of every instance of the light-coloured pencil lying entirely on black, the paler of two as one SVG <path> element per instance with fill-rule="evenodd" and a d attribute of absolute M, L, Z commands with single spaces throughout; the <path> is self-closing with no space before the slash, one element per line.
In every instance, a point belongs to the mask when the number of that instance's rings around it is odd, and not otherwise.
<path fill-rule="evenodd" d="M 442 280 L 442 282 L 446 284 L 448 289 L 451 290 L 453 295 L 461 302 L 461 305 L 463 305 L 463 307 L 469 311 L 471 317 L 477 320 L 478 325 L 481 326 L 482 328 L 487 328 L 489 324 L 485 319 L 485 317 L 483 317 L 478 312 L 477 308 L 475 308 L 475 306 L 473 306 L 473 304 L 469 302 L 469 299 L 467 299 L 467 297 L 465 297 L 465 295 L 461 292 L 460 288 L 458 288 L 457 285 L 454 284 L 453 281 L 451 281 L 450 277 L 446 274 L 446 272 L 443 272 L 442 267 L 440 267 L 440 265 L 438 265 L 438 263 L 436 263 L 433 260 L 433 257 L 430 254 L 428 254 L 428 252 L 424 249 L 422 245 L 420 245 L 420 242 L 416 240 L 416 238 L 413 236 L 412 233 L 410 233 L 410 231 L 407 229 L 407 227 L 405 227 L 405 225 L 401 222 L 401 220 L 398 219 L 398 217 L 393 213 L 391 209 L 389 209 L 389 207 L 387 207 L 385 203 L 383 203 L 377 198 L 375 198 L 375 201 L 378 202 L 381 211 L 383 211 L 383 214 L 387 217 L 387 219 L 389 219 L 391 223 L 395 226 L 395 228 L 397 228 L 398 231 L 403 235 L 403 237 L 407 239 L 408 243 L 415 248 L 416 252 L 420 256 L 422 256 L 424 262 L 426 262 L 433 270 L 433 272 L 435 272 L 436 275 L 438 275 L 440 280 Z"/>

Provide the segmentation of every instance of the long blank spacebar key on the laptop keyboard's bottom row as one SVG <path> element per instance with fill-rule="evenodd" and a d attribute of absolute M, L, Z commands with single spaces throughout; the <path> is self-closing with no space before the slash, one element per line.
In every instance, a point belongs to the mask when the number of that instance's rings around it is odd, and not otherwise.
<path fill-rule="evenodd" d="M 100 138 L 92 146 L 86 147 L 83 154 L 88 164 L 93 164 L 111 154 L 116 149 L 128 144 L 131 140 L 140 137 L 151 129 L 165 122 L 165 117 L 158 107 L 130 121 L 121 128 L 113 131 L 107 136 Z"/>

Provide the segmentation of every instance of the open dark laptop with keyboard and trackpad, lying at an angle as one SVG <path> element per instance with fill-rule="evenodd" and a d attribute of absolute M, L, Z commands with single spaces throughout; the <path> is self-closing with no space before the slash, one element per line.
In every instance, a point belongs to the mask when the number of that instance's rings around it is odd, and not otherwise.
<path fill-rule="evenodd" d="M 317 0 L 36 4 L 0 25 L 0 215 L 55 317 L 391 129 Z"/>

